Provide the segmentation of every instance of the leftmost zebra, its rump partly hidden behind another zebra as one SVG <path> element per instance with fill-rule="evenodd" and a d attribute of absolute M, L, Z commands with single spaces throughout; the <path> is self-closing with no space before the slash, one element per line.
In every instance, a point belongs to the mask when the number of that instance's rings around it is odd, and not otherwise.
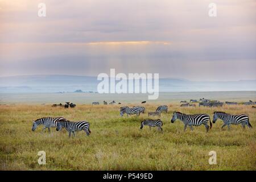
<path fill-rule="evenodd" d="M 35 121 L 33 121 L 33 125 L 32 125 L 32 131 L 35 131 L 36 128 L 39 125 L 43 125 L 44 128 L 42 130 L 42 132 L 48 128 L 48 131 L 50 132 L 50 127 L 57 127 L 57 122 L 60 121 L 60 119 L 66 120 L 63 117 L 56 117 L 56 118 L 52 118 L 52 117 L 46 117 L 46 118 L 39 118 L 36 119 Z"/>

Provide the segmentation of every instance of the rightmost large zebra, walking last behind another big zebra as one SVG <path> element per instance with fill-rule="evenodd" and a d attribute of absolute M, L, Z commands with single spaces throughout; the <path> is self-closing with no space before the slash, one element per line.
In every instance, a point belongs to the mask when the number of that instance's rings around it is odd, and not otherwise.
<path fill-rule="evenodd" d="M 249 122 L 249 117 L 246 114 L 228 114 L 225 112 L 219 112 L 215 111 L 213 114 L 213 123 L 217 121 L 217 119 L 221 119 L 224 122 L 224 125 L 221 126 L 221 129 L 223 129 L 224 126 L 228 126 L 228 129 L 230 130 L 230 125 L 239 125 L 241 124 L 243 129 L 245 128 L 245 125 L 248 127 L 251 126 L 251 123 Z"/>

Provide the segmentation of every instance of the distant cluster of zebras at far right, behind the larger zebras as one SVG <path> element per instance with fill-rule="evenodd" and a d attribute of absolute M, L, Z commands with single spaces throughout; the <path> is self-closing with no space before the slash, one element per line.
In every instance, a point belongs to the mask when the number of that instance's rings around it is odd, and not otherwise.
<path fill-rule="evenodd" d="M 196 107 L 195 104 L 190 104 L 190 102 L 192 102 L 192 103 L 198 102 L 199 106 L 208 106 L 208 107 L 218 107 L 218 106 L 222 107 L 224 105 L 224 102 L 200 98 L 199 101 L 197 101 L 197 100 L 190 100 L 189 102 L 180 101 L 180 103 L 181 103 L 180 107 Z M 225 104 L 226 105 L 238 105 L 237 102 L 228 102 L 228 101 L 226 101 Z M 243 102 L 242 104 L 243 105 L 255 105 L 256 102 L 253 102 L 250 100 L 249 102 Z M 253 106 L 253 108 L 255 108 L 255 106 Z"/>

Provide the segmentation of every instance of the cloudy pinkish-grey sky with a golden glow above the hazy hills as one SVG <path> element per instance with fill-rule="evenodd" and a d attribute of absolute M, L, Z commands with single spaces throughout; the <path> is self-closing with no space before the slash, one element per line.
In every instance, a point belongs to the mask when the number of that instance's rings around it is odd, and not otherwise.
<path fill-rule="evenodd" d="M 46 17 L 38 4 L 46 4 Z M 217 16 L 210 17 L 209 3 Z M 256 79 L 254 0 L 0 0 L 0 77 Z"/>

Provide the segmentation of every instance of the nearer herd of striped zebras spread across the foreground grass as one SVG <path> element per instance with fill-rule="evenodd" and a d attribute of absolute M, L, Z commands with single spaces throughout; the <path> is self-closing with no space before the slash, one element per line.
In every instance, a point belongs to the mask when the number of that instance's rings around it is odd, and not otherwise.
<path fill-rule="evenodd" d="M 148 116 L 150 115 L 159 115 L 162 112 L 167 113 L 168 111 L 168 106 L 167 105 L 160 105 L 156 108 L 154 112 L 148 113 Z M 141 113 L 145 113 L 146 108 L 144 106 L 134 106 L 134 107 L 129 107 L 129 106 L 124 106 L 120 107 L 120 115 L 123 116 L 123 114 L 128 115 L 133 115 L 136 114 L 139 116 Z M 180 113 L 178 111 L 174 111 L 172 118 L 171 118 L 171 123 L 174 123 L 176 119 L 179 119 L 184 123 L 184 131 L 187 129 L 187 126 L 193 130 L 193 126 L 200 126 L 204 125 L 205 129 L 207 132 L 209 129 L 212 128 L 212 122 L 210 121 L 210 116 L 208 114 L 184 114 Z M 248 126 L 252 128 L 250 122 L 249 122 L 249 117 L 246 114 L 228 114 L 222 111 L 214 111 L 213 113 L 213 123 L 217 121 L 217 119 L 221 119 L 224 122 L 224 125 L 222 125 L 221 129 L 224 126 L 228 126 L 228 129 L 230 129 L 230 125 L 242 125 L 243 129 L 245 126 Z M 209 125 L 208 125 L 209 122 Z M 76 131 L 81 131 L 84 130 L 86 135 L 89 136 L 91 131 L 89 129 L 90 123 L 87 121 L 69 121 L 68 119 L 64 117 L 45 117 L 45 118 L 39 118 L 33 121 L 32 125 L 32 131 L 35 131 L 36 128 L 39 125 L 43 125 L 43 130 L 48 129 L 50 132 L 51 127 L 56 127 L 56 131 L 60 131 L 63 127 L 68 131 L 69 137 L 71 137 L 71 133 L 75 136 Z M 141 122 L 141 129 L 143 126 L 149 126 L 151 127 L 158 127 L 160 131 L 163 132 L 162 126 L 163 122 L 160 119 L 144 119 Z"/>

